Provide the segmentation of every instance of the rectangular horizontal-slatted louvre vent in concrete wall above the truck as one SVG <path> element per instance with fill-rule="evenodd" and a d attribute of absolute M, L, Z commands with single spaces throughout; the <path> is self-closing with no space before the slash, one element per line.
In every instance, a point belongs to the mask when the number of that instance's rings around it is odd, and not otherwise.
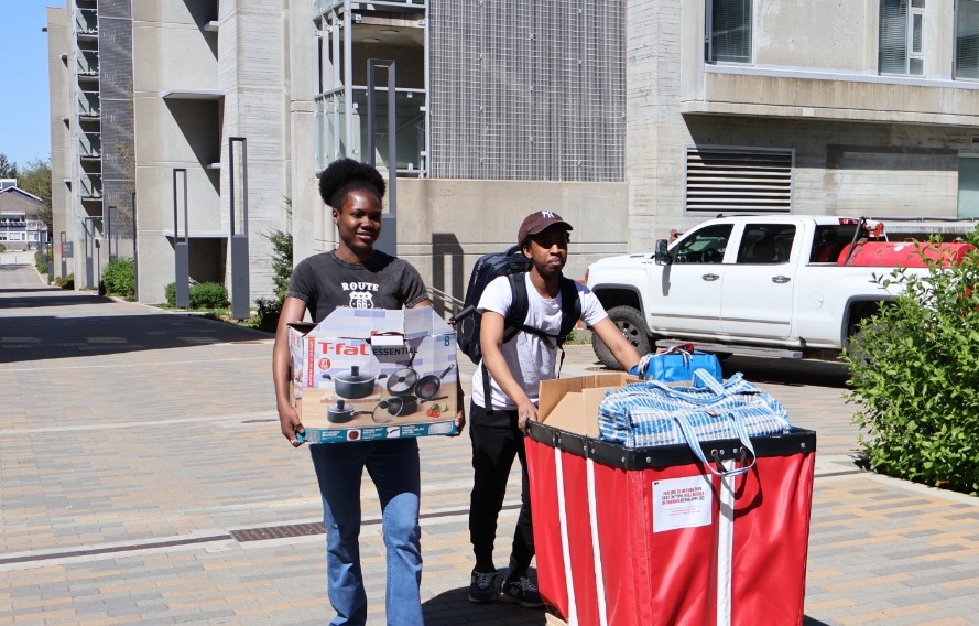
<path fill-rule="evenodd" d="M 788 213 L 792 209 L 791 149 L 687 147 L 689 213 Z"/>

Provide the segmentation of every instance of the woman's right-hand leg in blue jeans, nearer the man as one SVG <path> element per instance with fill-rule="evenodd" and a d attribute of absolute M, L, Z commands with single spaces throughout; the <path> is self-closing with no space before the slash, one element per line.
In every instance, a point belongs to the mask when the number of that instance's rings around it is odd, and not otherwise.
<path fill-rule="evenodd" d="M 378 488 L 388 562 L 388 624 L 423 626 L 421 463 L 416 439 L 379 442 L 367 461 Z"/>

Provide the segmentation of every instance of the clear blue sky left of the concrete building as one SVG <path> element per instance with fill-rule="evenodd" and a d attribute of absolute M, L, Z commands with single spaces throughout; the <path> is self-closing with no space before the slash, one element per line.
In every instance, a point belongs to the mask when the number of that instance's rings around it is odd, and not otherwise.
<path fill-rule="evenodd" d="M 46 7 L 63 0 L 0 0 L 0 152 L 18 165 L 51 156 Z"/>

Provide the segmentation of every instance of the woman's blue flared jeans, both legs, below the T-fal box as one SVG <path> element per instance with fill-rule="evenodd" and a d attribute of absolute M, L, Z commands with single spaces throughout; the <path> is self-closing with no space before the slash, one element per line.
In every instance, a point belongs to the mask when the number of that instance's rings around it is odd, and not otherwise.
<path fill-rule="evenodd" d="M 388 624 L 422 626 L 422 490 L 415 439 L 309 446 L 323 496 L 330 626 L 363 626 L 367 594 L 360 570 L 360 481 L 363 468 L 378 489 L 388 555 Z"/>

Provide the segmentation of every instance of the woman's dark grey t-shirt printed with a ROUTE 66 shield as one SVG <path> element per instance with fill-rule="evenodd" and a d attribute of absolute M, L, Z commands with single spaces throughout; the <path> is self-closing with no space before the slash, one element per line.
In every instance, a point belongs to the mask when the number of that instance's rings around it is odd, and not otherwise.
<path fill-rule="evenodd" d="M 333 250 L 307 257 L 293 270 L 285 295 L 304 301 L 317 324 L 338 306 L 411 309 L 428 299 L 418 270 L 379 250 L 362 265 L 341 261 Z"/>

